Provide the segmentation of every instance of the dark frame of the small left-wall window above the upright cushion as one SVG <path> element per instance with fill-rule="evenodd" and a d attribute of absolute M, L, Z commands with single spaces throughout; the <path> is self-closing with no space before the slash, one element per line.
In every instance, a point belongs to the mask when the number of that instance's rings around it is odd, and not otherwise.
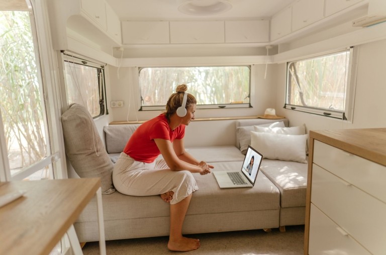
<path fill-rule="evenodd" d="M 68 51 L 60 51 L 60 55 L 61 55 L 61 60 L 62 60 L 62 70 L 63 70 L 62 75 L 63 75 L 63 80 L 64 80 L 64 96 L 65 96 L 64 102 L 67 103 L 67 107 L 69 106 L 69 104 L 68 104 L 68 98 L 67 98 L 68 86 L 66 83 L 66 79 L 64 77 L 64 75 L 65 75 L 65 62 L 93 67 L 93 68 L 96 68 L 97 72 L 100 71 L 100 73 L 98 73 L 98 75 L 99 74 L 101 75 L 98 78 L 98 91 L 100 93 L 100 95 L 99 95 L 100 112 L 99 112 L 99 115 L 92 116 L 92 118 L 95 119 L 95 118 L 99 118 L 105 114 L 109 114 L 109 110 L 108 110 L 107 103 L 106 103 L 107 102 L 106 80 L 105 80 L 105 66 L 106 66 L 106 64 L 89 59 L 89 58 L 84 57 L 84 56 L 80 56 L 80 55 L 72 53 L 72 52 L 68 52 Z M 90 112 L 90 114 L 91 114 L 91 112 Z"/>

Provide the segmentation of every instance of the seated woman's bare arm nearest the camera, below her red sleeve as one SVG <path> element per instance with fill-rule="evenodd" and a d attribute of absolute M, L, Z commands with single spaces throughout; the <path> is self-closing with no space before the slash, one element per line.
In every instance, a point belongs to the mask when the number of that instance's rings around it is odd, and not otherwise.
<path fill-rule="evenodd" d="M 154 142 L 172 171 L 188 170 L 191 173 L 210 173 L 209 166 L 205 162 L 198 162 L 197 160 L 191 161 L 191 159 L 194 159 L 191 156 L 189 162 L 180 159 L 169 140 L 154 139 Z"/>

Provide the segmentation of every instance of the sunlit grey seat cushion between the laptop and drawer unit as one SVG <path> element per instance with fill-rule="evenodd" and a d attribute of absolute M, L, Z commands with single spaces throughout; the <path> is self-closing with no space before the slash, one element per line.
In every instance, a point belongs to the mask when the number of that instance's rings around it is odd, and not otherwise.
<path fill-rule="evenodd" d="M 279 189 L 281 207 L 306 206 L 308 164 L 263 159 L 260 169 Z"/>

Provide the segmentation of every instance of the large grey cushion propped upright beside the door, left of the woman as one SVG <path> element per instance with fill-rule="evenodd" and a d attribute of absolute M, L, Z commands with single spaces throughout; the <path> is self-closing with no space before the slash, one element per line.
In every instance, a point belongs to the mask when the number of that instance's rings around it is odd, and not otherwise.
<path fill-rule="evenodd" d="M 113 163 L 88 110 L 74 103 L 61 120 L 66 155 L 75 172 L 82 178 L 100 177 L 102 192 L 113 193 Z"/>

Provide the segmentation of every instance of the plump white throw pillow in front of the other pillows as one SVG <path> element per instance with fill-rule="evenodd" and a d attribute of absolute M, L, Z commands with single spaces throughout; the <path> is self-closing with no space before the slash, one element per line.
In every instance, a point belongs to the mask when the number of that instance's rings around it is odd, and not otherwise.
<path fill-rule="evenodd" d="M 308 135 L 283 135 L 251 131 L 251 146 L 263 158 L 307 163 Z"/>

